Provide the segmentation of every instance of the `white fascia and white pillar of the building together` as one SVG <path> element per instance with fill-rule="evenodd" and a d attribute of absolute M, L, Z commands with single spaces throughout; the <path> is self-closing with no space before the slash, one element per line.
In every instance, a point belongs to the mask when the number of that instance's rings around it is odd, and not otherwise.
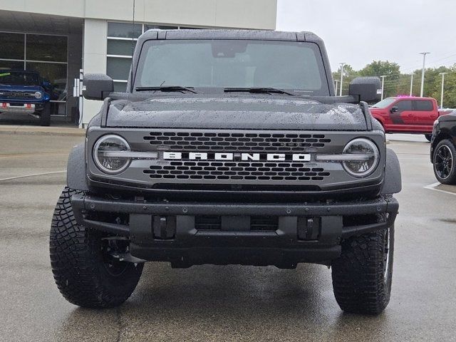
<path fill-rule="evenodd" d="M 144 24 L 220 28 L 276 28 L 277 0 L 136 0 L 135 21 Z M 130 22 L 133 0 L 0 0 L 0 9 L 85 19 L 83 70 L 106 73 L 108 21 Z M 82 123 L 101 101 L 83 100 Z"/>

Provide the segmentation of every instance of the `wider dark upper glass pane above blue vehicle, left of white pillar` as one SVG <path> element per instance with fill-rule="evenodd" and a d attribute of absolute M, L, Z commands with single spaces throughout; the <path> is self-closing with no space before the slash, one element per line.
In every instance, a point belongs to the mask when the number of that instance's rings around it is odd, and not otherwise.
<path fill-rule="evenodd" d="M 66 36 L 46 36 L 44 34 L 27 34 L 26 59 L 28 61 L 67 61 Z"/>

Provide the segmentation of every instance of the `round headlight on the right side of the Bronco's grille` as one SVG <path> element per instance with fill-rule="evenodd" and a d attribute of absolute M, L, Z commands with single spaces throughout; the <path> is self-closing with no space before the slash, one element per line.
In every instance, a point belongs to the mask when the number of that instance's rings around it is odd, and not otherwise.
<path fill-rule="evenodd" d="M 346 172 L 352 176 L 366 177 L 371 175 L 378 165 L 378 148 L 371 140 L 364 138 L 351 140 L 343 149 L 343 153 L 356 155 L 353 156 L 353 160 L 343 162 Z"/>

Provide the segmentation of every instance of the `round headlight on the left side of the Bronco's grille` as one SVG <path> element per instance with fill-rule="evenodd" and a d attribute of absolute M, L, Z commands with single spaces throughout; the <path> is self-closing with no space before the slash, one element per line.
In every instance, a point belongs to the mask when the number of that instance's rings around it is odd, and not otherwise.
<path fill-rule="evenodd" d="M 104 135 L 93 147 L 93 160 L 97 167 L 105 173 L 119 173 L 130 164 L 130 158 L 115 156 L 115 153 L 130 151 L 127 140 L 118 135 Z M 113 156 L 114 155 L 114 156 Z"/>

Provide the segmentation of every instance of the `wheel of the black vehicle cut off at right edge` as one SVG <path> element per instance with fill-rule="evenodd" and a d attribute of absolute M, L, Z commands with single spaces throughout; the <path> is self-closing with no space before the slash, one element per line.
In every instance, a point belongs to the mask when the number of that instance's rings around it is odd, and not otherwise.
<path fill-rule="evenodd" d="M 456 185 L 456 148 L 451 140 L 442 140 L 435 146 L 432 165 L 439 182 Z"/>

